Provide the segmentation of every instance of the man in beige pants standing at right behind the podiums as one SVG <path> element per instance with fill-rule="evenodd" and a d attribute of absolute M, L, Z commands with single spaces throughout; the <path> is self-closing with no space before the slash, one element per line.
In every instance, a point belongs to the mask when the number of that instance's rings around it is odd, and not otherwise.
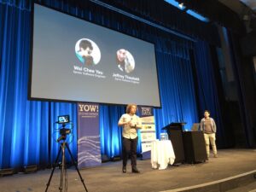
<path fill-rule="evenodd" d="M 204 118 L 201 119 L 201 131 L 204 132 L 204 137 L 206 141 L 206 147 L 207 147 L 207 160 L 209 159 L 210 156 L 210 143 L 212 145 L 212 152 L 214 157 L 218 157 L 217 155 L 217 148 L 216 148 L 216 124 L 214 119 L 210 118 L 210 112 L 205 111 L 204 113 Z"/>

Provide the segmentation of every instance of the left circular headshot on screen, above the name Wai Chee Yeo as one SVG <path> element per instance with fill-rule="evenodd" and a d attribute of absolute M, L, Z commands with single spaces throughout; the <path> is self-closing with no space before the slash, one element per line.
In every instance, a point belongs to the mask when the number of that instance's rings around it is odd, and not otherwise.
<path fill-rule="evenodd" d="M 81 38 L 76 43 L 75 52 L 85 66 L 96 65 L 101 60 L 101 50 L 89 38 Z"/>

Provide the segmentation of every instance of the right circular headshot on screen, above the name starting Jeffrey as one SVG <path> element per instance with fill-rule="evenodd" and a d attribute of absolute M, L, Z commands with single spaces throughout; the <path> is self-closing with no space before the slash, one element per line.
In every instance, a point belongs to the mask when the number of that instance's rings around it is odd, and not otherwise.
<path fill-rule="evenodd" d="M 125 73 L 131 73 L 135 68 L 133 56 L 126 49 L 119 49 L 116 52 L 116 62 L 119 69 Z"/>

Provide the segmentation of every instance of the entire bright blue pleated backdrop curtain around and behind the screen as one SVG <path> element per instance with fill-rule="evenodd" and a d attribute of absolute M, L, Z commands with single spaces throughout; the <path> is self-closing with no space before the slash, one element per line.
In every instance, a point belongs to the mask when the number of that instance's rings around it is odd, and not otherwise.
<path fill-rule="evenodd" d="M 163 37 L 154 35 L 152 26 L 148 30 L 147 25 L 138 25 L 135 20 L 130 22 L 137 27 L 131 28 L 127 22 L 121 25 L 120 17 L 111 16 L 110 11 L 105 14 L 109 17 L 103 17 L 100 8 L 99 12 L 92 13 L 90 9 L 81 10 L 60 1 L 46 2 L 70 14 L 154 42 L 162 103 L 162 108 L 154 109 L 157 137 L 161 128 L 173 121 L 187 122 L 185 129 L 188 130 L 199 121 L 189 57 L 189 49 L 194 46 L 191 42 L 168 34 Z M 60 148 L 59 143 L 55 142 L 60 127 L 55 121 L 61 114 L 70 114 L 73 120 L 73 126 L 69 125 L 73 134 L 68 136 L 67 142 L 75 158 L 77 154 L 76 104 L 27 99 L 32 49 L 31 6 L 30 1 L 25 0 L 0 0 L 0 168 L 19 169 L 21 166 L 48 166 L 53 163 Z M 129 21 L 127 18 L 124 20 Z M 149 31 L 152 33 L 148 34 Z M 209 59 L 206 54 L 201 54 L 202 58 Z M 121 128 L 117 123 L 122 113 L 125 113 L 124 107 L 100 107 L 101 148 L 102 154 L 108 157 L 121 154 Z M 140 145 L 137 150 L 141 151 Z"/>

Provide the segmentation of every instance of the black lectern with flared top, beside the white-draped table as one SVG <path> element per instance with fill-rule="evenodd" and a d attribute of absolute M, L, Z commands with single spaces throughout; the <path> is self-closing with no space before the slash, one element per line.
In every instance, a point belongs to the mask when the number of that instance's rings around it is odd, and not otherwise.
<path fill-rule="evenodd" d="M 173 122 L 166 125 L 162 130 L 166 130 L 169 139 L 172 142 L 172 147 L 175 154 L 175 163 L 183 163 L 185 161 L 184 147 L 183 147 L 183 125 L 185 122 Z"/>

